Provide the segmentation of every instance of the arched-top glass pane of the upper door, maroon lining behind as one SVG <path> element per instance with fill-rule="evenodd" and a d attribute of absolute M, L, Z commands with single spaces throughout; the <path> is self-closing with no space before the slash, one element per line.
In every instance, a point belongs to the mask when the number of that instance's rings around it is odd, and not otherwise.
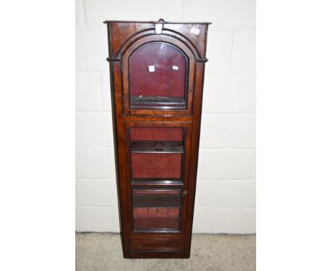
<path fill-rule="evenodd" d="M 186 108 L 187 57 L 169 43 L 146 43 L 129 57 L 131 108 Z"/>

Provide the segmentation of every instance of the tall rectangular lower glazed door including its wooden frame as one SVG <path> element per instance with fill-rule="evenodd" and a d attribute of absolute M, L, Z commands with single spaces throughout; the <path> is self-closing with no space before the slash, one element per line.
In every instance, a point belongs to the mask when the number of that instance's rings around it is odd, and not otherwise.
<path fill-rule="evenodd" d="M 125 123 L 125 131 L 131 235 L 182 236 L 191 124 L 131 122 Z"/>

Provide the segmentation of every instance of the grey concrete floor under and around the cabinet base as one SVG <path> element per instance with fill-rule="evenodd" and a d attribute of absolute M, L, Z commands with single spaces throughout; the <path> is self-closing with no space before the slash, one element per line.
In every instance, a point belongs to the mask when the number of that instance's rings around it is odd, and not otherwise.
<path fill-rule="evenodd" d="M 256 236 L 194 234 L 189 259 L 124 259 L 115 233 L 76 233 L 76 271 L 255 270 Z"/>

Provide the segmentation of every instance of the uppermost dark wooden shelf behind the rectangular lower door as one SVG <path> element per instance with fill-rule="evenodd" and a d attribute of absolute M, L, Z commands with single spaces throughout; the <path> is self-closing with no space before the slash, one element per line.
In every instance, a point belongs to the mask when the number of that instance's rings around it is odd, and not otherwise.
<path fill-rule="evenodd" d="M 175 140 L 133 140 L 132 153 L 183 153 L 183 142 Z"/>

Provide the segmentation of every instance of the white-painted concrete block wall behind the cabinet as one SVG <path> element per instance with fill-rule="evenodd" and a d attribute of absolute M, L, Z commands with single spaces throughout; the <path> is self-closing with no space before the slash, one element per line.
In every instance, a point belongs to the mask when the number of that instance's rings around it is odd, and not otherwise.
<path fill-rule="evenodd" d="M 255 233 L 255 1 L 76 1 L 76 230 L 118 232 L 108 20 L 211 21 L 196 233 Z"/>

